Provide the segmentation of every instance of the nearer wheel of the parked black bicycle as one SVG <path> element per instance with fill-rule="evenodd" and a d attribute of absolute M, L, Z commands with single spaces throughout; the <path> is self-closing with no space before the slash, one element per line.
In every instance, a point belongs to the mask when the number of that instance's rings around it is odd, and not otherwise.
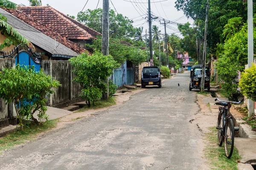
<path fill-rule="evenodd" d="M 235 130 L 232 119 L 227 119 L 225 125 L 224 147 L 227 158 L 231 158 L 234 148 Z"/>

